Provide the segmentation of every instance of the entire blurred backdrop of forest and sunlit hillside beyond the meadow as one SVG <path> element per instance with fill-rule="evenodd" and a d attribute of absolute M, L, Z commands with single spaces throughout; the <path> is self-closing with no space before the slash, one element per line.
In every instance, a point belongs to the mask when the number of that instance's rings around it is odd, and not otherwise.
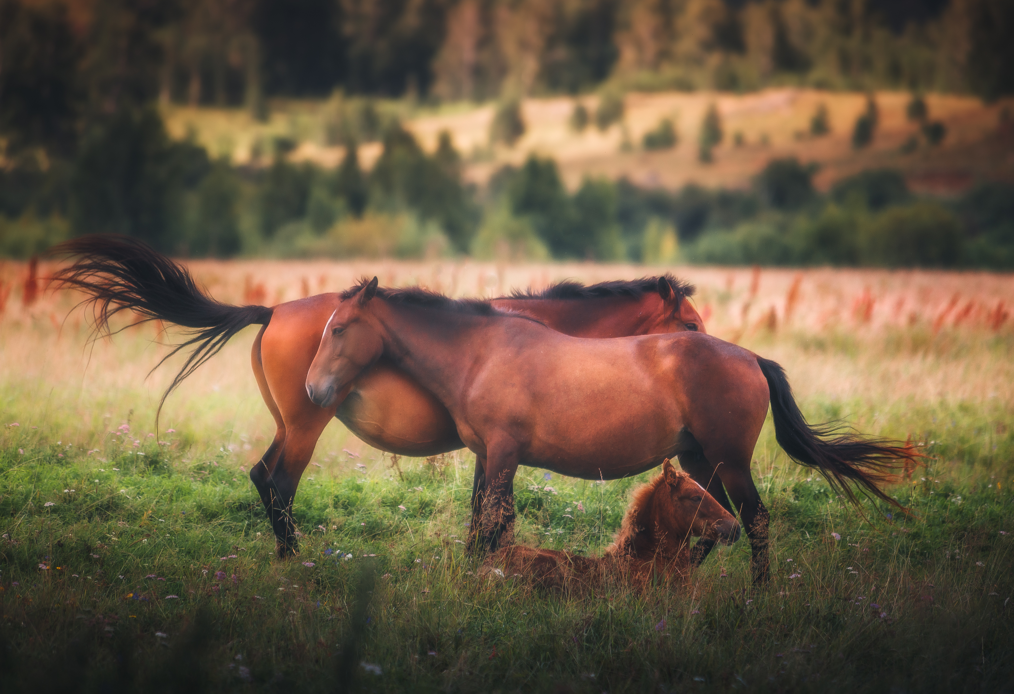
<path fill-rule="evenodd" d="M 1014 267 L 1009 0 L 0 0 L 0 255 Z"/>

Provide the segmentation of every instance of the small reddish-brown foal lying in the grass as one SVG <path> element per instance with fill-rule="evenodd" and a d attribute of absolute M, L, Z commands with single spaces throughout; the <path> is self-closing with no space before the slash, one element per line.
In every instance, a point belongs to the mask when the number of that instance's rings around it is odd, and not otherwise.
<path fill-rule="evenodd" d="M 480 575 L 520 574 L 551 590 L 584 591 L 606 583 L 648 587 L 690 574 L 690 541 L 732 544 L 739 524 L 715 497 L 668 459 L 662 473 L 634 491 L 615 540 L 601 557 L 510 545 L 491 555 Z"/>

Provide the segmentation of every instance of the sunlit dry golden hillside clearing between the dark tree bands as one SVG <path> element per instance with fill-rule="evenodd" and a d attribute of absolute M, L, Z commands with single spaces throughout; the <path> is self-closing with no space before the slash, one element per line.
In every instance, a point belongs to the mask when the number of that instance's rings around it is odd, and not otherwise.
<path fill-rule="evenodd" d="M 690 182 L 745 187 L 768 161 L 788 156 L 820 164 L 815 177 L 820 189 L 843 176 L 879 167 L 901 170 L 918 192 L 952 194 L 983 178 L 1014 180 L 1014 109 L 1009 99 L 984 105 L 966 96 L 927 95 L 930 118 L 946 126 L 947 137 L 938 147 L 924 144 L 902 154 L 902 144 L 919 130 L 906 118 L 911 95 L 877 92 L 875 98 L 876 136 L 871 146 L 858 152 L 851 138 L 857 117 L 866 108 L 862 93 L 796 88 L 749 94 L 632 92 L 625 99 L 622 126 L 604 133 L 589 126 L 580 134 L 568 126 L 575 99 L 528 98 L 522 104 L 527 130 L 511 149 L 489 148 L 492 104 L 456 103 L 436 110 L 393 104 L 391 108 L 402 112 L 406 127 L 427 150 L 435 149 L 441 131 L 451 133 L 468 160 L 466 176 L 480 183 L 501 165 L 517 164 L 531 152 L 554 157 L 571 187 L 585 175 L 628 176 L 649 187 L 673 188 Z M 597 97 L 583 96 L 580 101 L 594 112 Z M 722 117 L 725 138 L 715 150 L 715 162 L 704 165 L 697 159 L 697 142 L 702 118 L 712 103 Z M 821 103 L 827 108 L 830 134 L 812 138 L 810 119 Z M 172 107 L 165 111 L 174 137 L 193 133 L 209 152 L 227 154 L 238 163 L 249 161 L 259 139 L 286 137 L 298 143 L 291 155 L 294 159 L 336 166 L 344 149 L 327 145 L 327 102 L 307 101 L 274 104 L 265 124 L 254 122 L 241 110 Z M 643 135 L 663 118 L 674 123 L 679 144 L 672 150 L 643 151 Z M 735 144 L 737 134 L 740 146 Z M 631 147 L 625 148 L 625 141 Z M 363 145 L 360 161 L 369 168 L 379 154 L 379 143 Z"/>

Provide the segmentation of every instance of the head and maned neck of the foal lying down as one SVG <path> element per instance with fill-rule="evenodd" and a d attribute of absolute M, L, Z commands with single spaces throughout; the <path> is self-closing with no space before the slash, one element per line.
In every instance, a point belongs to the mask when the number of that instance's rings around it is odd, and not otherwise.
<path fill-rule="evenodd" d="M 739 537 L 739 523 L 666 460 L 662 474 L 634 494 L 621 534 L 630 534 L 631 540 L 635 534 L 646 534 L 656 542 L 689 544 L 692 537 L 701 537 L 731 544 Z"/>

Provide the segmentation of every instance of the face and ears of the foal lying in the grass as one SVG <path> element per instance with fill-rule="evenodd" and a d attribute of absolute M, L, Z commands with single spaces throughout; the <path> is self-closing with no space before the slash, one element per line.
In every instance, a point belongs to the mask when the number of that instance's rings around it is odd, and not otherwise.
<path fill-rule="evenodd" d="M 673 539 L 693 536 L 732 544 L 739 538 L 739 523 L 732 514 L 668 460 L 662 463 L 654 496 L 652 520 Z"/>

